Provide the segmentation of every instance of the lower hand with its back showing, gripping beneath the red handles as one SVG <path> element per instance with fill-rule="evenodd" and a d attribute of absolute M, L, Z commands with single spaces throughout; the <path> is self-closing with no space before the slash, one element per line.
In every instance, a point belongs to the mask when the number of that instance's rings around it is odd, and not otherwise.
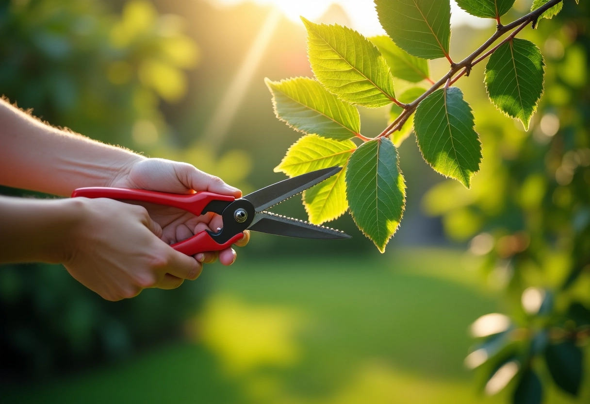
<path fill-rule="evenodd" d="M 76 220 L 60 243 L 61 262 L 104 299 L 132 298 L 144 288 L 178 288 L 201 274 L 200 262 L 162 243 L 162 228 L 144 207 L 107 198 L 63 201 Z"/>

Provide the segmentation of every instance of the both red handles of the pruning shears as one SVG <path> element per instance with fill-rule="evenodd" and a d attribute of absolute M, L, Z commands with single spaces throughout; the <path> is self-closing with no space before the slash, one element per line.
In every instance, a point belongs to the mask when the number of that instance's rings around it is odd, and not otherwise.
<path fill-rule="evenodd" d="M 86 198 L 110 198 L 117 200 L 139 201 L 156 203 L 163 206 L 172 206 L 186 210 L 196 216 L 201 215 L 205 206 L 211 201 L 235 200 L 232 196 L 219 195 L 208 191 L 199 191 L 195 194 L 169 194 L 158 191 L 134 190 L 129 188 L 107 188 L 90 187 L 78 188 L 72 193 L 72 197 Z M 230 247 L 233 243 L 241 240 L 243 233 L 238 233 L 223 244 L 215 242 L 209 233 L 203 231 L 196 233 L 189 239 L 173 244 L 171 247 L 186 255 L 195 255 L 199 252 L 218 251 Z"/>

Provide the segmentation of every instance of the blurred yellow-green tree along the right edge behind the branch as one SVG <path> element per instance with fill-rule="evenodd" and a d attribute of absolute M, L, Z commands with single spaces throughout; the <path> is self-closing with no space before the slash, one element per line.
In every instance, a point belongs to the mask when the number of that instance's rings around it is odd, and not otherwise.
<path fill-rule="evenodd" d="M 514 403 L 537 403 L 550 379 L 577 395 L 590 337 L 590 5 L 563 2 L 526 35 L 546 56 L 545 96 L 529 133 L 474 106 L 483 168 L 467 191 L 444 181 L 424 198 L 447 234 L 470 240 L 510 317 L 474 322 L 466 364 L 485 390 L 509 383 Z"/>

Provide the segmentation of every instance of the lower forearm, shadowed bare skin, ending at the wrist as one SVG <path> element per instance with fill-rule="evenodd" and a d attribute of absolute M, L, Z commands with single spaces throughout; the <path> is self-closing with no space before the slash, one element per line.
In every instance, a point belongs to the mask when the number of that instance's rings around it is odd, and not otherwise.
<path fill-rule="evenodd" d="M 76 198 L 0 196 L 0 263 L 64 262 L 81 210 Z"/>

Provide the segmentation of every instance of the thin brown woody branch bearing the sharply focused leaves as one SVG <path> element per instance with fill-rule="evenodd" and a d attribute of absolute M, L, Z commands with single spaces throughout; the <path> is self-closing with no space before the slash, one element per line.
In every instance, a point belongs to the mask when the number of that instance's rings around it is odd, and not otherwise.
<path fill-rule="evenodd" d="M 477 63 L 480 63 L 480 61 L 484 60 L 486 57 L 490 56 L 503 43 L 506 43 L 506 41 L 512 40 L 512 38 L 514 38 L 514 36 L 516 34 L 518 34 L 523 28 L 525 28 L 526 25 L 528 25 L 530 22 L 534 23 L 535 21 L 537 21 L 537 19 L 540 17 L 541 14 L 543 14 L 543 12 L 547 11 L 549 8 L 552 8 L 554 5 L 559 4 L 562 1 L 563 0 L 549 0 L 548 2 L 546 2 L 545 4 L 540 6 L 539 8 L 529 12 L 529 14 L 523 15 L 523 17 L 520 17 L 519 19 L 516 19 L 516 20 L 510 22 L 510 24 L 507 24 L 507 25 L 498 24 L 496 32 L 494 32 L 494 34 L 491 35 L 491 37 L 488 38 L 488 40 L 486 42 L 484 42 L 480 47 L 478 47 L 475 51 L 473 51 L 473 53 L 471 53 L 469 56 L 467 56 L 466 58 L 461 60 L 459 63 L 453 63 L 453 60 L 451 60 L 450 56 L 445 55 L 447 57 L 447 59 L 451 62 L 451 69 L 448 71 L 448 73 L 445 74 L 444 76 L 442 76 L 441 79 L 438 80 L 438 82 L 432 84 L 430 89 L 426 90 L 421 96 L 419 96 L 413 102 L 411 102 L 409 104 L 405 104 L 405 107 L 404 107 L 404 110 L 402 111 L 402 113 L 398 116 L 398 118 L 396 118 L 394 120 L 394 122 L 390 123 L 387 126 L 387 128 L 385 128 L 385 130 L 383 130 L 383 132 L 379 133 L 379 135 L 375 136 L 375 138 L 367 138 L 367 139 L 372 140 L 372 139 L 382 138 L 383 136 L 391 135 L 391 133 L 393 133 L 395 131 L 399 131 L 399 129 L 401 129 L 402 126 L 404 126 L 404 123 L 412 115 L 412 113 L 414 113 L 414 111 L 418 107 L 419 103 L 422 102 L 422 100 L 424 100 L 426 97 L 428 97 L 429 95 L 434 93 L 435 90 L 439 89 L 441 86 L 443 86 L 447 83 L 448 83 L 448 85 L 451 85 L 451 84 L 455 83 L 460 77 L 462 77 L 464 75 L 468 76 L 469 72 L 471 71 L 471 67 L 473 67 Z M 491 46 L 491 44 L 496 42 L 502 35 L 506 34 L 506 32 L 512 31 L 512 30 L 514 30 L 514 32 L 511 32 L 511 34 L 509 36 L 507 36 L 506 38 L 504 38 L 504 40 L 502 40 L 498 45 L 491 48 L 485 54 L 481 55 L 482 53 L 484 53 L 484 51 L 487 50 L 487 48 L 489 48 Z M 454 77 L 455 74 L 457 74 L 458 72 L 460 72 L 460 73 L 456 77 Z M 431 82 L 432 82 L 432 80 L 431 80 Z M 365 136 L 363 136 L 363 138 L 364 137 Z"/>

